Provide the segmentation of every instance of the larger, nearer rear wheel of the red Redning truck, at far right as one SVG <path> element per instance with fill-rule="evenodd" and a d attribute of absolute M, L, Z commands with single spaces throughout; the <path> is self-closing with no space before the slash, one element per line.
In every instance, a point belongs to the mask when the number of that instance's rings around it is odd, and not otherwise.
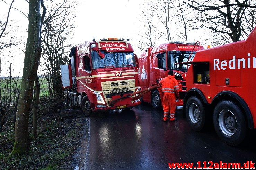
<path fill-rule="evenodd" d="M 213 124 L 220 139 L 231 146 L 237 146 L 245 138 L 245 118 L 241 109 L 232 101 L 223 100 L 216 105 Z"/>

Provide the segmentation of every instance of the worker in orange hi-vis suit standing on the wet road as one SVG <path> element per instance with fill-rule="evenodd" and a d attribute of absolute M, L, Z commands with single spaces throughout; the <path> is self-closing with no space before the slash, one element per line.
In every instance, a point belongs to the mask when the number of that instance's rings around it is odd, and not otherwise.
<path fill-rule="evenodd" d="M 168 76 L 160 81 L 162 85 L 163 97 L 163 108 L 164 108 L 164 121 L 168 120 L 168 113 L 170 113 L 170 121 L 175 121 L 175 100 L 179 98 L 179 85 L 177 80 L 173 76 L 173 70 L 168 72 Z"/>

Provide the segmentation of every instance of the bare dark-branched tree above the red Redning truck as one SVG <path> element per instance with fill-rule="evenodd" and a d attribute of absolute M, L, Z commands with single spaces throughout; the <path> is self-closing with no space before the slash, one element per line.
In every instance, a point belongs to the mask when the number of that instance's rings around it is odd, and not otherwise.
<path fill-rule="evenodd" d="M 190 20 L 193 29 L 211 30 L 215 33 L 214 38 L 220 39 L 220 43 L 241 40 L 244 31 L 247 32 L 243 29 L 243 26 L 246 27 L 246 16 L 254 18 L 253 9 L 256 7 L 255 0 L 183 0 L 183 4 L 197 12 Z M 226 40 L 221 40 L 223 38 Z"/>

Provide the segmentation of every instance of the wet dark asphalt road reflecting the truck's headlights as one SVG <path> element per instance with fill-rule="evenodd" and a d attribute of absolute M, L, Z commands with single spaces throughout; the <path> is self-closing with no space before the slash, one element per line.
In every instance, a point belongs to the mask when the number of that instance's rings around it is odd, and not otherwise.
<path fill-rule="evenodd" d="M 79 169 L 169 169 L 168 163 L 256 162 L 256 133 L 239 147 L 220 141 L 214 129 L 193 131 L 182 110 L 176 122 L 163 122 L 162 110 L 149 104 L 88 118 L 88 146 Z M 202 167 L 202 166 L 201 166 Z M 255 166 L 256 167 L 256 166 Z"/>

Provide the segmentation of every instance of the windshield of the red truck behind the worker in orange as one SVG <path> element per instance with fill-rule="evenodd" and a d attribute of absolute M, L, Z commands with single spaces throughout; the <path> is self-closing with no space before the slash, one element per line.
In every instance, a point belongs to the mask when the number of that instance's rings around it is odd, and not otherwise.
<path fill-rule="evenodd" d="M 169 55 L 170 58 L 172 58 L 172 60 L 170 60 L 171 61 L 171 63 L 170 63 L 171 69 L 186 71 L 187 70 L 187 64 L 176 64 L 176 63 L 187 62 L 188 58 L 191 54 L 191 51 L 177 51 L 176 53 L 179 53 L 180 55 L 171 54 L 171 53 Z M 195 53 L 196 53 L 196 51 L 193 51 L 189 61 L 193 60 L 193 58 L 195 56 Z"/>

